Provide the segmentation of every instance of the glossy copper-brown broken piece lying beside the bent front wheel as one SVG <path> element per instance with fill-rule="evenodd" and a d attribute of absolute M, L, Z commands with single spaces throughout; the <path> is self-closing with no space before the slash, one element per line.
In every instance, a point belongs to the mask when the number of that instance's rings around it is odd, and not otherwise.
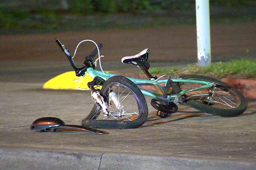
<path fill-rule="evenodd" d="M 73 131 L 83 131 L 83 132 L 92 132 L 95 134 L 106 134 L 106 132 L 84 127 L 84 126 L 78 126 L 78 125 L 66 125 L 61 119 L 59 118 L 53 118 L 53 117 L 44 117 L 39 118 L 35 120 L 31 126 L 31 131 L 33 132 L 56 132 L 57 129 L 70 129 Z"/>

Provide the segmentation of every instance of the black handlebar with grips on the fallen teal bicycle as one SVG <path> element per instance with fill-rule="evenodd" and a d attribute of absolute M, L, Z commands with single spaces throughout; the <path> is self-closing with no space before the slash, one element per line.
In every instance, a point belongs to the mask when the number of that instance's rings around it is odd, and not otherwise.
<path fill-rule="evenodd" d="M 85 57 L 84 67 L 77 68 L 75 62 L 73 61 L 72 55 L 70 54 L 68 49 L 65 47 L 65 45 L 62 44 L 58 38 L 55 38 L 55 42 L 58 44 L 58 46 L 61 48 L 61 50 L 65 53 L 65 55 L 69 59 L 71 66 L 76 71 L 76 76 L 83 76 L 85 74 L 87 68 L 93 67 L 94 64 L 92 64 L 92 63 L 94 61 L 94 57 L 98 53 L 97 47 L 91 52 L 90 55 Z M 101 43 L 99 43 L 97 45 L 99 47 L 99 50 L 103 47 L 103 44 L 101 44 Z M 90 63 L 90 64 L 88 64 L 88 63 Z"/>

